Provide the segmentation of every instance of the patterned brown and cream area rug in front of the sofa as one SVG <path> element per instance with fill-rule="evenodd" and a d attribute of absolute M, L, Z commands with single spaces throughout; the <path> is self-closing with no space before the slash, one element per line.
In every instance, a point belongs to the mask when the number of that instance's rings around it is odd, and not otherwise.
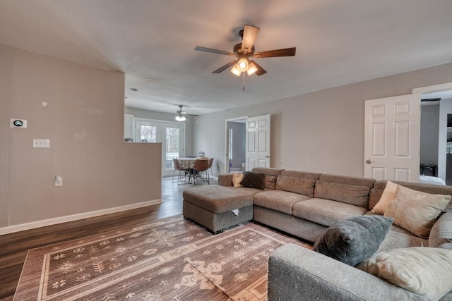
<path fill-rule="evenodd" d="M 182 216 L 29 250 L 14 300 L 266 300 L 268 257 L 309 245 L 255 223 Z"/>

